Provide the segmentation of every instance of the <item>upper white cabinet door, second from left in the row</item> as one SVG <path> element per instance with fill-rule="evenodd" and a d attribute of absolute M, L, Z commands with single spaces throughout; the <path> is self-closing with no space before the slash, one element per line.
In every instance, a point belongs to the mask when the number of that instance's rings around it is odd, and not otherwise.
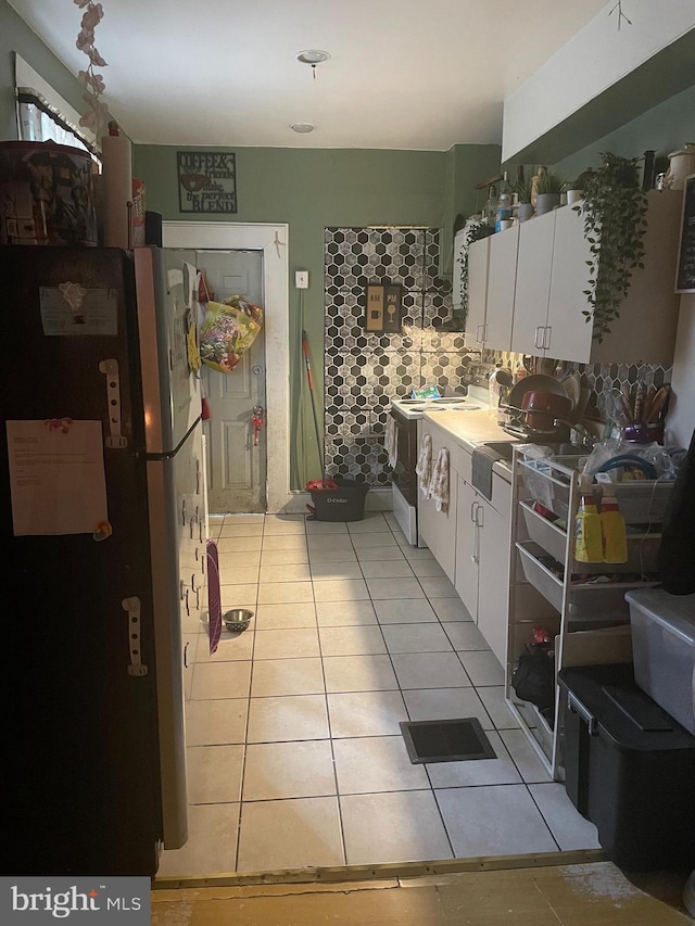
<path fill-rule="evenodd" d="M 511 346 L 519 228 L 520 226 L 516 225 L 492 234 L 489 239 L 490 265 L 485 313 L 488 337 L 485 346 L 493 351 L 508 351 Z"/>

